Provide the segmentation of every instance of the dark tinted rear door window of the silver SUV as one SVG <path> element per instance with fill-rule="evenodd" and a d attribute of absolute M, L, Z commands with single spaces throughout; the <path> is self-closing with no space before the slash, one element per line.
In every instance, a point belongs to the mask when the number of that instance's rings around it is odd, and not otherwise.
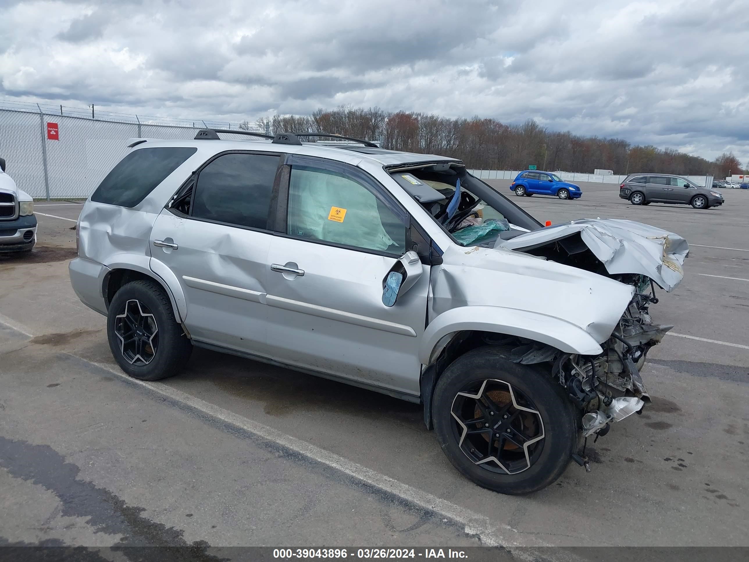
<path fill-rule="evenodd" d="M 269 154 L 224 154 L 198 175 L 192 216 L 267 229 L 270 196 L 279 157 Z"/>

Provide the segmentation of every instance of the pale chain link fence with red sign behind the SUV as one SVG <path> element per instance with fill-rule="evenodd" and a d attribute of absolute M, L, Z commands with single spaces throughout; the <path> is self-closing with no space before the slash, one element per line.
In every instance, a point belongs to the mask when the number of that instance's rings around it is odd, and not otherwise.
<path fill-rule="evenodd" d="M 0 157 L 19 189 L 34 199 L 86 198 L 127 154 L 127 139 L 193 139 L 203 128 L 240 128 L 228 121 L 93 112 L 94 118 L 85 109 L 0 100 Z"/>

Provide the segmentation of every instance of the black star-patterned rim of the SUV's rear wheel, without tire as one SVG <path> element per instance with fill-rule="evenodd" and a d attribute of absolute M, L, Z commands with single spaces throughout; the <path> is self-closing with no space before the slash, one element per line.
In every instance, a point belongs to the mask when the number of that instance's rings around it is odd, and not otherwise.
<path fill-rule="evenodd" d="M 159 327 L 148 306 L 137 299 L 125 303 L 121 314 L 115 316 L 115 335 L 120 342 L 124 360 L 131 365 L 145 366 L 156 357 Z"/>

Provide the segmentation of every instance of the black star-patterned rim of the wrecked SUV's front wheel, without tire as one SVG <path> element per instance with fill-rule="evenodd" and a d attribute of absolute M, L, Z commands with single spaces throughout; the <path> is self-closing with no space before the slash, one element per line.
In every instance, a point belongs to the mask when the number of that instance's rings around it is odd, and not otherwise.
<path fill-rule="evenodd" d="M 485 470 L 518 474 L 538 460 L 544 423 L 521 390 L 496 378 L 473 381 L 450 408 L 452 432 L 465 456 Z"/>

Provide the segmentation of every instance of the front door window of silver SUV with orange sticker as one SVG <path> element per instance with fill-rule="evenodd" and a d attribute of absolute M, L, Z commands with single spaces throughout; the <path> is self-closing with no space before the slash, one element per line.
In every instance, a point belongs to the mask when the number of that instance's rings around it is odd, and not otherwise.
<path fill-rule="evenodd" d="M 406 226 L 375 193 L 339 172 L 291 167 L 287 234 L 401 256 Z"/>

